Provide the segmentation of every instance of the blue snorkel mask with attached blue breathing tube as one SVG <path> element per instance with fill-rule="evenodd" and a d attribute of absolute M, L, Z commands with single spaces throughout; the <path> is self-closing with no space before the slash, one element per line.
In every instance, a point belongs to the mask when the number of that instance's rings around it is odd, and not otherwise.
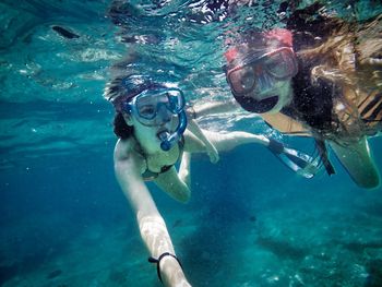
<path fill-rule="evenodd" d="M 184 95 L 178 88 L 158 87 L 145 89 L 126 103 L 124 110 L 133 115 L 146 127 L 163 125 L 178 116 L 178 127 L 174 132 L 163 131 L 157 134 L 160 148 L 169 151 L 182 136 L 187 128 Z"/>

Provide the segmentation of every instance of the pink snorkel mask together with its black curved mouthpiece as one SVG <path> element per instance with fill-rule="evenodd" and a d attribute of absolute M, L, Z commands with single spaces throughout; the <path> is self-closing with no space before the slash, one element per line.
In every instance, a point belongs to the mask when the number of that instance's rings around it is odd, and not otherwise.
<path fill-rule="evenodd" d="M 276 106 L 278 96 L 258 100 L 253 95 L 270 88 L 274 81 L 288 80 L 297 74 L 298 67 L 291 43 L 291 33 L 277 28 L 267 33 L 255 33 L 249 40 L 225 53 L 228 62 L 225 68 L 226 79 L 234 97 L 242 108 L 263 113 Z"/>

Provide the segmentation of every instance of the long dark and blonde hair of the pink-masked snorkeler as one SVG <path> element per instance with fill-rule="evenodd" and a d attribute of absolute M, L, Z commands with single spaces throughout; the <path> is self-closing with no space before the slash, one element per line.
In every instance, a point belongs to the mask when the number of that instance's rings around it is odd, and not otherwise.
<path fill-rule="evenodd" d="M 345 21 L 320 14 L 318 9 L 320 5 L 296 11 L 287 23 L 294 32 L 299 62 L 299 72 L 293 80 L 298 94 L 294 105 L 303 112 L 300 119 L 325 139 L 357 140 L 372 125 L 362 122 L 361 100 L 382 86 L 382 15 L 368 21 Z M 344 94 L 344 88 L 353 91 L 351 98 Z M 320 104 L 311 103 L 314 99 L 321 99 Z M 336 103 L 346 107 L 357 129 L 350 131 L 344 125 L 348 121 L 333 112 Z"/>

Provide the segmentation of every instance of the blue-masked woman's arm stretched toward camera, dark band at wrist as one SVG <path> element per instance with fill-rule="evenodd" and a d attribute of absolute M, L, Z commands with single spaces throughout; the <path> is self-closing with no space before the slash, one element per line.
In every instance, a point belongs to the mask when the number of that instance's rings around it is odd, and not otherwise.
<path fill-rule="evenodd" d="M 136 215 L 141 237 L 154 259 L 169 252 L 175 255 L 166 224 L 141 177 L 142 158 L 132 152 L 131 142 L 118 141 L 115 148 L 117 180 Z M 162 256 L 159 273 L 165 286 L 188 287 L 178 261 L 171 255 Z"/>

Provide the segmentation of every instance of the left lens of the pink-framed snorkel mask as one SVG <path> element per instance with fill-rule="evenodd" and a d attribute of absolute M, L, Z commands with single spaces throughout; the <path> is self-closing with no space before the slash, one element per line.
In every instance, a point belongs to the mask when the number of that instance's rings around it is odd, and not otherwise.
<path fill-rule="evenodd" d="M 229 74 L 229 83 L 235 93 L 249 93 L 251 89 L 253 89 L 255 84 L 253 68 L 250 65 L 244 65 L 240 69 L 234 70 Z"/>

